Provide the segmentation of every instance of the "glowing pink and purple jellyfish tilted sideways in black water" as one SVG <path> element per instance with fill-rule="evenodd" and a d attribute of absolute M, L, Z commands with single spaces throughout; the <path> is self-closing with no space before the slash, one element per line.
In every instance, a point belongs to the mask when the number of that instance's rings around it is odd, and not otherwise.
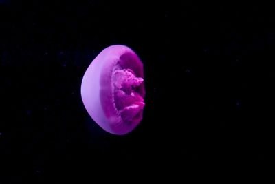
<path fill-rule="evenodd" d="M 87 68 L 81 96 L 89 115 L 111 134 L 127 134 L 142 121 L 144 70 L 131 48 L 111 45 Z"/>

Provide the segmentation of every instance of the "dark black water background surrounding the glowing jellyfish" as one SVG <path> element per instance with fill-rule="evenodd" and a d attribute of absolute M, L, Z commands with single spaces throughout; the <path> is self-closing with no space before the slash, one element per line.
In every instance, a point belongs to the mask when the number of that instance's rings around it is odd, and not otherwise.
<path fill-rule="evenodd" d="M 272 6 L 5 0 L 0 32 L 0 183 L 272 174 Z M 124 136 L 98 127 L 80 96 L 113 44 L 144 63 L 144 119 Z"/>

